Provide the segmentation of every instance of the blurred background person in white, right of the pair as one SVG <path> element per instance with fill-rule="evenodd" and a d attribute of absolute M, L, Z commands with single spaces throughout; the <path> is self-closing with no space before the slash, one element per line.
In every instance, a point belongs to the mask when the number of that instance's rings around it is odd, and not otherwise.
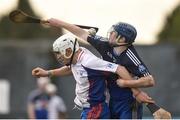
<path fill-rule="evenodd" d="M 64 119 L 66 118 L 66 106 L 60 96 L 56 94 L 57 88 L 54 84 L 49 83 L 46 86 L 46 91 L 50 96 L 48 104 L 49 119 Z"/>

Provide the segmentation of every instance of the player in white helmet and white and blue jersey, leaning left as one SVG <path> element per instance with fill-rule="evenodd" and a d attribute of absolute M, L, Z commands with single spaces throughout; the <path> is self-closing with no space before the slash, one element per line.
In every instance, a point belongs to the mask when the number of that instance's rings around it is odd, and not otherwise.
<path fill-rule="evenodd" d="M 144 83 L 141 80 L 134 81 L 125 67 L 104 61 L 86 48 L 79 47 L 77 38 L 70 34 L 61 36 L 53 43 L 53 52 L 57 60 L 65 66 L 54 70 L 44 70 L 38 67 L 33 69 L 32 75 L 36 77 L 63 76 L 72 73 L 76 80 L 76 98 L 74 102 L 83 110 L 82 119 L 110 118 L 104 94 L 106 89 L 105 80 L 109 73 L 118 74 L 121 79 L 117 81 L 128 80 L 131 82 L 131 87 Z M 154 102 L 139 89 L 133 88 L 132 91 L 134 94 L 140 94 L 137 98 L 139 101 Z"/>

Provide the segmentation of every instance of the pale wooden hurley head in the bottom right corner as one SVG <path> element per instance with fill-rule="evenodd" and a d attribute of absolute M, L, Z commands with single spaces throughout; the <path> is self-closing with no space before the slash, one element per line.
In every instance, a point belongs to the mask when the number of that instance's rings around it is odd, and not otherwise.
<path fill-rule="evenodd" d="M 156 112 L 153 113 L 154 119 L 172 119 L 171 113 L 160 108 Z"/>

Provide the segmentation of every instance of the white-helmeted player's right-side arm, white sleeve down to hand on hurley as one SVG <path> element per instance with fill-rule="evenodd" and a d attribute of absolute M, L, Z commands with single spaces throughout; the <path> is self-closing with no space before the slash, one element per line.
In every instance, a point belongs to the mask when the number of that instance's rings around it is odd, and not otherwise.
<path fill-rule="evenodd" d="M 89 55 L 87 56 L 87 58 L 88 59 L 82 63 L 82 65 L 87 68 L 104 71 L 104 72 L 117 73 L 120 77 L 124 77 L 126 80 L 132 79 L 129 72 L 123 66 L 108 61 L 104 61 L 100 58 L 97 58 L 95 55 Z M 139 102 L 147 102 L 147 103 L 154 102 L 147 94 L 145 93 L 143 94 L 143 93 L 144 93 L 143 91 L 133 88 L 133 94 L 136 95 L 136 99 L 138 99 Z"/>

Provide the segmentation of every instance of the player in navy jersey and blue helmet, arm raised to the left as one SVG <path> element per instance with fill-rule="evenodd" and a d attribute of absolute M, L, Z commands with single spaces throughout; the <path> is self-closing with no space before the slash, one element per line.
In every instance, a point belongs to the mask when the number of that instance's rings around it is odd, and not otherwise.
<path fill-rule="evenodd" d="M 130 24 L 120 22 L 113 25 L 108 32 L 108 37 L 104 38 L 95 35 L 93 30 L 88 32 L 61 20 L 51 18 L 48 22 L 50 26 L 63 27 L 79 38 L 89 42 L 97 49 L 104 60 L 125 66 L 137 80 L 148 81 L 133 86 L 134 84 L 132 85 L 131 82 L 126 80 L 116 82 L 116 75 L 107 77 L 107 79 L 111 79 L 107 81 L 110 93 L 109 107 L 112 118 L 142 118 L 142 105 L 136 102 L 135 99 L 140 93 L 133 96 L 131 89 L 118 87 L 118 85 L 127 87 L 150 87 L 154 85 L 153 76 L 132 45 L 137 35 L 136 29 Z M 151 110 L 153 108 L 152 112 L 155 118 L 170 117 L 170 113 L 159 106 L 153 103 L 146 105 Z"/>

